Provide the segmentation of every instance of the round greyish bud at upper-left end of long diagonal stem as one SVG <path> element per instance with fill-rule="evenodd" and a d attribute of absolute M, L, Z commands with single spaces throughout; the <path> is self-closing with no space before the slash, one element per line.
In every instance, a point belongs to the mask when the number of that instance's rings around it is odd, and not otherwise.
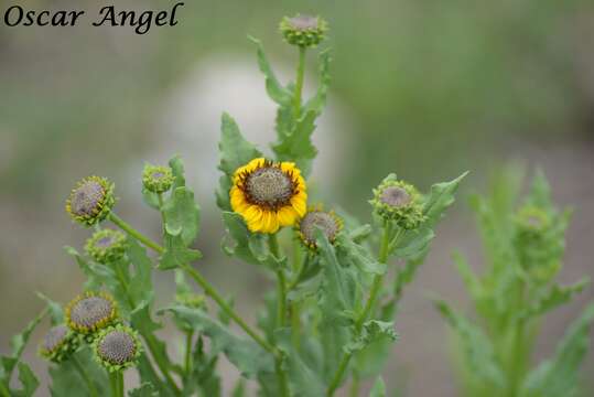
<path fill-rule="evenodd" d="M 105 178 L 88 176 L 73 189 L 66 201 L 66 212 L 85 226 L 104 221 L 116 204 L 114 184 Z"/>

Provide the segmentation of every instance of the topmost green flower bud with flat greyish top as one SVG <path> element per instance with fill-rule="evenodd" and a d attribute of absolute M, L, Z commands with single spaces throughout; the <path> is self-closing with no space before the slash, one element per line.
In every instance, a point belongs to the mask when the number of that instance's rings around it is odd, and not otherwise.
<path fill-rule="evenodd" d="M 326 37 L 328 24 L 320 17 L 296 14 L 293 18 L 284 17 L 280 31 L 289 44 L 313 47 Z"/>

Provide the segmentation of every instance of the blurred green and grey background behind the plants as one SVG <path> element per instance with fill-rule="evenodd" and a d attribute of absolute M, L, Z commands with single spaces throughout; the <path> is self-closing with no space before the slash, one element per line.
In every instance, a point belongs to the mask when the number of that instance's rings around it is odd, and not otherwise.
<path fill-rule="evenodd" d="M 24 4 L 26 3 L 26 4 Z M 174 1 L 120 1 L 118 9 L 170 9 Z M 0 1 L 2 14 L 12 2 Z M 295 12 L 331 24 L 333 83 L 316 140 L 318 196 L 369 219 L 370 190 L 388 172 L 426 189 L 472 171 L 462 194 L 483 190 L 494 168 L 539 164 L 561 205 L 576 207 L 562 279 L 594 275 L 594 3 L 587 0 L 186 1 L 174 28 L 137 35 L 91 28 L 105 4 L 23 1 L 26 9 L 84 9 L 75 28 L 8 28 L 0 22 L 0 352 L 42 302 L 65 302 L 83 277 L 62 247 L 88 232 L 73 225 L 64 200 L 87 174 L 117 184 L 118 213 L 159 235 L 159 218 L 140 205 L 143 161 L 180 152 L 204 207 L 202 269 L 255 318 L 260 275 L 219 253 L 214 206 L 220 112 L 257 142 L 273 139 L 253 45 L 261 39 L 284 78 L 295 50 L 278 21 Z M 309 57 L 309 88 L 315 57 Z M 460 248 L 480 264 L 465 200 L 441 228 L 429 262 L 408 291 L 389 386 L 409 396 L 454 396 L 447 332 L 426 292 L 465 302 L 451 262 Z M 168 298 L 171 275 L 162 275 Z M 537 348 L 553 342 L 592 291 L 551 316 Z M 163 299 L 165 299 L 163 298 Z M 43 363 L 26 358 L 37 368 Z M 588 368 L 592 372 L 592 358 Z M 228 378 L 237 376 L 225 366 Z M 229 380 L 230 382 L 230 380 Z M 586 380 L 587 382 L 587 380 Z M 592 382 L 592 380 L 590 380 Z M 44 395 L 44 394 L 40 394 Z"/>

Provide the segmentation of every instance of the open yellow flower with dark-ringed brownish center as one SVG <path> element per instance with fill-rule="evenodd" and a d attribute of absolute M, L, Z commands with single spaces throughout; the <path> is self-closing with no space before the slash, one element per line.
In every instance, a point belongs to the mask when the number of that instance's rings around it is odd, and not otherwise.
<path fill-rule="evenodd" d="M 292 162 L 251 160 L 235 171 L 229 196 L 251 232 L 276 233 L 307 211 L 305 181 Z"/>

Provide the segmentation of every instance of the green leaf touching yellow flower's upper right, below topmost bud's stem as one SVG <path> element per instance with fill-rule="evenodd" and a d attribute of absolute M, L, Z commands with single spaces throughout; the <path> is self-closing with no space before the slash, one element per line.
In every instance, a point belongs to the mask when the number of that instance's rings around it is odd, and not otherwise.
<path fill-rule="evenodd" d="M 280 140 L 272 144 L 272 150 L 279 161 L 295 162 L 306 178 L 312 170 L 312 161 L 317 155 L 317 149 L 312 143 L 312 133 L 315 130 L 317 114 L 307 111 L 298 120 L 294 130 L 280 136 Z"/>

